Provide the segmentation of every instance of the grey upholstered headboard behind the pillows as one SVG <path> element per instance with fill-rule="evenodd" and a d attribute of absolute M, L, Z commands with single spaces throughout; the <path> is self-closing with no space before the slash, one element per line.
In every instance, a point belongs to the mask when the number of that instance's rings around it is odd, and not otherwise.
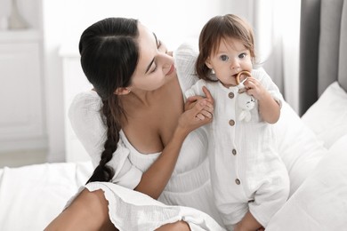
<path fill-rule="evenodd" d="M 347 0 L 302 0 L 299 114 L 336 80 L 347 92 Z"/>

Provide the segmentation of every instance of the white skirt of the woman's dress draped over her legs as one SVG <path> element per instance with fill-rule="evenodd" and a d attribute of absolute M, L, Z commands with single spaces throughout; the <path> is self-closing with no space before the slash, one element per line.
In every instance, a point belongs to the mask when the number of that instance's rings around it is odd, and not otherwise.
<path fill-rule="evenodd" d="M 93 182 L 85 187 L 90 191 L 104 191 L 109 202 L 109 218 L 119 230 L 155 230 L 164 224 L 184 220 L 192 231 L 225 231 L 208 214 L 191 207 L 170 206 L 148 195 L 107 182 Z M 81 187 L 79 191 L 85 187 Z"/>

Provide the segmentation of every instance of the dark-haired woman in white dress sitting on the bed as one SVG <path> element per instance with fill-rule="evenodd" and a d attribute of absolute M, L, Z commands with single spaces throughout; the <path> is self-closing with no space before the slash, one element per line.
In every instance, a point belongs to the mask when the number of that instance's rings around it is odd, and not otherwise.
<path fill-rule="evenodd" d="M 204 89 L 185 104 L 182 93 L 197 80 L 197 53 L 182 45 L 172 56 L 123 18 L 86 28 L 79 50 L 94 91 L 78 95 L 69 116 L 95 171 L 46 230 L 222 230 L 200 128 L 213 99 Z"/>

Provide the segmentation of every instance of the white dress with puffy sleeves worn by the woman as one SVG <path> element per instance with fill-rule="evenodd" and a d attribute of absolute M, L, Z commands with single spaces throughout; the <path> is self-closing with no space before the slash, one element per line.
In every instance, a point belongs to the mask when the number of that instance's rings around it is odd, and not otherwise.
<path fill-rule="evenodd" d="M 182 92 L 198 80 L 194 76 L 196 57 L 196 51 L 188 44 L 182 44 L 173 53 Z M 71 125 L 91 156 L 94 167 L 100 161 L 106 139 L 101 106 L 97 93 L 89 91 L 78 94 L 69 108 Z M 158 200 L 153 200 L 133 188 L 140 182 L 142 172 L 160 153 L 141 154 L 120 131 L 117 151 L 108 163 L 115 170 L 112 183 L 93 182 L 85 187 L 89 190 L 101 188 L 105 192 L 109 217 L 119 230 L 154 230 L 181 219 L 186 220 L 192 230 L 223 230 L 216 222 L 222 223 L 212 199 L 206 139 L 204 128 L 190 132 L 171 179 Z"/>

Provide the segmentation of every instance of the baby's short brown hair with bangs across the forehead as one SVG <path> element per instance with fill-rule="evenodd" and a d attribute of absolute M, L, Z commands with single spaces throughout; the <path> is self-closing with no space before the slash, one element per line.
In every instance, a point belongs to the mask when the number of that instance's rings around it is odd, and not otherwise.
<path fill-rule="evenodd" d="M 215 16 L 208 20 L 201 30 L 198 39 L 198 60 L 196 62 L 196 71 L 199 78 L 206 81 L 216 81 L 211 77 L 211 69 L 206 66 L 206 60 L 212 54 L 217 52 L 222 40 L 233 37 L 242 41 L 251 57 L 255 59 L 254 54 L 254 33 L 252 27 L 234 14 Z"/>

